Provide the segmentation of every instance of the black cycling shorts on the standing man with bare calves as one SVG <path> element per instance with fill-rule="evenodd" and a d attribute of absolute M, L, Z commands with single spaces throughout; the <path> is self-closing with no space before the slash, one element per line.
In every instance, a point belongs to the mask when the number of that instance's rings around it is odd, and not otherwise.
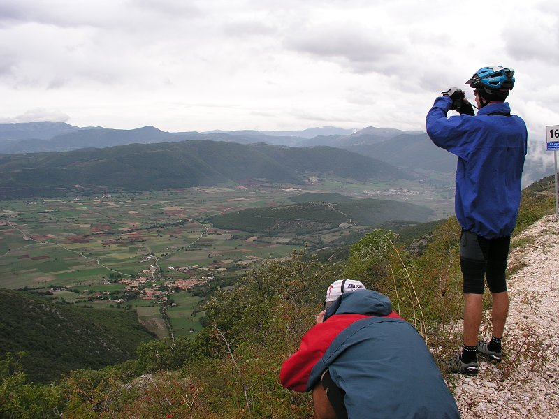
<path fill-rule="evenodd" d="M 486 239 L 470 231 L 460 235 L 460 268 L 465 294 L 483 294 L 484 277 L 491 293 L 507 291 L 507 258 L 511 237 Z"/>

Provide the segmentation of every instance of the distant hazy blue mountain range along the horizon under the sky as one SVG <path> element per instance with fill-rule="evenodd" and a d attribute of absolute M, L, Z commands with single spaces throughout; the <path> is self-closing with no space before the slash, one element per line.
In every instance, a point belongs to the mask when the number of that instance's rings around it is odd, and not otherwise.
<path fill-rule="evenodd" d="M 407 172 L 439 172 L 449 175 L 456 170 L 456 156 L 435 147 L 423 131 L 367 127 L 351 130 L 326 126 L 302 131 L 161 131 L 153 126 L 131 130 L 72 126 L 61 122 L 0 124 L 0 154 L 67 152 L 78 149 L 103 149 L 131 144 L 155 144 L 186 140 L 211 140 L 243 145 L 310 147 L 330 146 L 372 157 Z M 531 147 L 531 148 L 530 148 Z M 529 142 L 529 149 L 534 149 Z M 525 184 L 549 175 L 539 159 L 527 159 Z"/>

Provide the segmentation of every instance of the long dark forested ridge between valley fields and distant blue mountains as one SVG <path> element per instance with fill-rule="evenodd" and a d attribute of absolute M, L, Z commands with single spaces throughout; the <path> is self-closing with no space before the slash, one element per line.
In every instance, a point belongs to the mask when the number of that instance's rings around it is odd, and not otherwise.
<path fill-rule="evenodd" d="M 308 177 L 411 179 L 382 161 L 333 147 L 215 141 L 0 155 L 0 197 L 147 191 L 238 182 L 304 184 Z"/>

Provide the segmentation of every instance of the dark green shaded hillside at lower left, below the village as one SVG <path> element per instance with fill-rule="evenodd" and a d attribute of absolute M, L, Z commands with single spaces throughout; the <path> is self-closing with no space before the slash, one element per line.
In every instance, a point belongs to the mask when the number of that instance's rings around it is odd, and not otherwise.
<path fill-rule="evenodd" d="M 78 309 L 8 290 L 0 290 L 0 307 L 0 353 L 27 353 L 22 363 L 38 383 L 129 360 L 153 339 L 135 311 Z"/>

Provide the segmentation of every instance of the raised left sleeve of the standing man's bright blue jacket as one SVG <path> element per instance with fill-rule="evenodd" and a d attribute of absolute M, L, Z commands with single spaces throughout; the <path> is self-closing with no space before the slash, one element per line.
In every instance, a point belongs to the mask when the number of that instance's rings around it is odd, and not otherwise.
<path fill-rule="evenodd" d="M 451 105 L 452 100 L 449 96 L 435 99 L 433 108 L 429 110 L 426 117 L 427 135 L 433 144 L 467 160 L 472 149 L 472 141 L 476 137 L 470 135 L 475 117 L 470 115 L 447 117 Z"/>

